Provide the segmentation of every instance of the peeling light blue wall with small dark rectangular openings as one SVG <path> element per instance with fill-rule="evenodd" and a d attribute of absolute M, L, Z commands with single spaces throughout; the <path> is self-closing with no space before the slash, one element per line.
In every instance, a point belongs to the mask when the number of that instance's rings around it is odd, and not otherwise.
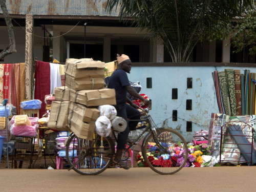
<path fill-rule="evenodd" d="M 128 74 L 132 82 L 140 81 L 142 90 L 152 99 L 150 111 L 155 123 L 181 133 L 187 141 L 192 141 L 194 131 L 208 130 L 211 113 L 219 113 L 214 81 L 211 72 L 236 69 L 244 73 L 242 67 L 132 67 Z M 152 78 L 152 89 L 146 88 L 146 78 Z M 193 78 L 193 88 L 187 89 L 187 78 Z M 178 99 L 172 99 L 172 89 L 178 89 Z M 192 110 L 186 110 L 186 100 L 192 99 Z M 178 112 L 178 120 L 173 121 L 173 110 Z M 187 121 L 192 122 L 192 132 L 186 132 Z"/>

